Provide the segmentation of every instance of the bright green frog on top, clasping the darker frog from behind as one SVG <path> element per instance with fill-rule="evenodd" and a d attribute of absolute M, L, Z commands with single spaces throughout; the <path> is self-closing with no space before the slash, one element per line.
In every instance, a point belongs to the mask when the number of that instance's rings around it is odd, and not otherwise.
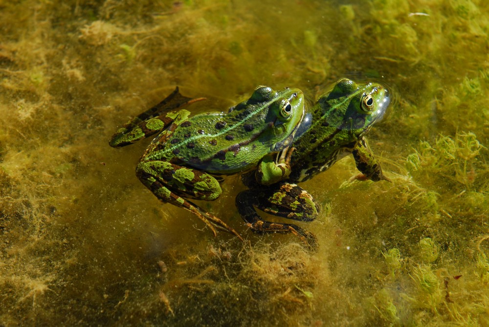
<path fill-rule="evenodd" d="M 159 134 L 136 167 L 140 181 L 163 202 L 184 208 L 200 218 L 216 235 L 216 228 L 241 236 L 221 219 L 190 199 L 215 200 L 222 175 L 261 167 L 257 182 L 269 184 L 290 173 L 293 141 L 305 113 L 304 95 L 296 88 L 276 91 L 257 87 L 251 97 L 227 113 L 190 116 L 181 109 L 196 101 L 178 87 L 155 107 L 134 117 L 109 141 L 111 147 L 132 144 Z M 278 159 L 273 155 L 281 153 Z"/>

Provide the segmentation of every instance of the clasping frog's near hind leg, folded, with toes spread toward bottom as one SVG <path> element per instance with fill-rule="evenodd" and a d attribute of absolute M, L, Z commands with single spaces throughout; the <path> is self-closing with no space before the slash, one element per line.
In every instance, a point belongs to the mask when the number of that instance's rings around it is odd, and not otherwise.
<path fill-rule="evenodd" d="M 212 201 L 221 195 L 219 182 L 211 175 L 166 161 L 141 161 L 136 167 L 141 182 L 163 202 L 168 202 L 199 217 L 216 235 L 216 228 L 243 240 L 233 228 L 182 196 Z"/>

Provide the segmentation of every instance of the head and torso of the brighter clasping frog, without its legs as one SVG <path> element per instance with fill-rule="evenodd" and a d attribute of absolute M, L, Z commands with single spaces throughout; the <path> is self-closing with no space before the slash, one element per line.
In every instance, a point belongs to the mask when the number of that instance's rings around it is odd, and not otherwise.
<path fill-rule="evenodd" d="M 299 89 L 260 86 L 228 113 L 209 112 L 174 122 L 153 140 L 142 161 L 165 161 L 216 174 L 255 167 L 292 142 L 304 116 Z"/>

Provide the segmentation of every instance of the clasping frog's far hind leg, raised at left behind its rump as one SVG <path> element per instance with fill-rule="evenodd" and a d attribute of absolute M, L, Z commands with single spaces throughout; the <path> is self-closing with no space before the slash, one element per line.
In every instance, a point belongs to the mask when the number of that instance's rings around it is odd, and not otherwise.
<path fill-rule="evenodd" d="M 187 119 L 190 112 L 187 110 L 176 111 L 177 109 L 204 99 L 192 99 L 183 96 L 177 87 L 156 106 L 140 113 L 124 124 L 112 135 L 109 145 L 112 148 L 120 148 L 154 135 L 166 129 L 175 120 Z"/>

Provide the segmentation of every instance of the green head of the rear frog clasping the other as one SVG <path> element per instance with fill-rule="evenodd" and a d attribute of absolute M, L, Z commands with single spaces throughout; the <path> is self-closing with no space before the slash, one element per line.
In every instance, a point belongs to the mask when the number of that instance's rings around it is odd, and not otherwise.
<path fill-rule="evenodd" d="M 259 86 L 249 102 L 264 103 L 268 108 L 264 122 L 264 139 L 272 144 L 271 151 L 288 147 L 304 117 L 304 93 L 298 88 L 285 87 L 275 91 L 271 87 Z"/>

